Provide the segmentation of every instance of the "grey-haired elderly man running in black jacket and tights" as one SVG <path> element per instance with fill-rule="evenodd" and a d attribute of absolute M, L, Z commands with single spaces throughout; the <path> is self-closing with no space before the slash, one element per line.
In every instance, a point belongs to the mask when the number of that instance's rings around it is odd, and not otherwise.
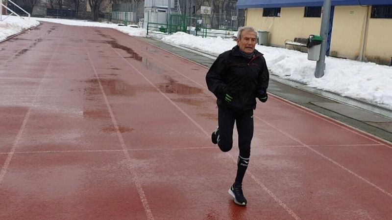
<path fill-rule="evenodd" d="M 256 31 L 242 27 L 238 31 L 237 45 L 223 52 L 208 70 L 208 89 L 217 97 L 218 127 L 211 139 L 223 152 L 233 147 L 234 122 L 237 125 L 240 155 L 237 175 L 229 189 L 234 202 L 246 205 L 242 182 L 249 164 L 250 142 L 253 137 L 253 110 L 256 98 L 266 102 L 269 72 L 263 54 L 255 50 Z"/>

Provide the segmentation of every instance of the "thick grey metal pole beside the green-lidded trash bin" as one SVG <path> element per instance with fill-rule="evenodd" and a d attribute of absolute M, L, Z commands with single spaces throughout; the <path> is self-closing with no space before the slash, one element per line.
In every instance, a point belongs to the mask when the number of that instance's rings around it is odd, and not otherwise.
<path fill-rule="evenodd" d="M 320 36 L 322 39 L 320 59 L 316 64 L 315 77 L 321 78 L 324 75 L 325 70 L 325 53 L 327 52 L 327 38 L 328 38 L 328 26 L 329 26 L 329 14 L 331 12 L 331 0 L 324 0 L 324 5 L 322 6 L 322 18 L 321 18 L 321 28 Z"/>

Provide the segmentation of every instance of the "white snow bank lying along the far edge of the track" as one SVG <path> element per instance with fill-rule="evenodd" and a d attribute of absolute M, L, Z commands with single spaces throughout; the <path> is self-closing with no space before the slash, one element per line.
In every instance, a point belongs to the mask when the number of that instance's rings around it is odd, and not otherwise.
<path fill-rule="evenodd" d="M 131 36 L 146 36 L 147 34 L 147 31 L 142 28 L 119 26 L 112 23 L 44 18 L 23 20 L 10 16 L 0 22 L 0 41 L 7 36 L 21 32 L 25 28 L 38 25 L 39 22 L 37 21 L 115 28 Z M 213 55 L 218 55 L 236 45 L 236 42 L 231 39 L 202 38 L 182 32 L 172 35 L 148 34 L 148 36 L 160 38 L 170 44 L 195 48 Z M 309 87 L 332 91 L 342 96 L 367 100 L 392 109 L 392 66 L 327 57 L 324 76 L 317 79 L 314 76 L 316 62 L 309 61 L 306 53 L 262 45 L 256 45 L 256 49 L 264 54 L 270 72 L 281 78 L 302 82 Z"/>

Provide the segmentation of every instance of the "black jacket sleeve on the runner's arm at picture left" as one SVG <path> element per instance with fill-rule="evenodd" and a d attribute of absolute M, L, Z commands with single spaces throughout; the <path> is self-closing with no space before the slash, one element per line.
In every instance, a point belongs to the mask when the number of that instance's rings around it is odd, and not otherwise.
<path fill-rule="evenodd" d="M 223 73 L 225 71 L 225 59 L 219 55 L 215 62 L 212 64 L 205 77 L 208 90 L 210 90 L 217 98 L 224 96 L 224 88 L 226 84 L 223 82 Z"/>

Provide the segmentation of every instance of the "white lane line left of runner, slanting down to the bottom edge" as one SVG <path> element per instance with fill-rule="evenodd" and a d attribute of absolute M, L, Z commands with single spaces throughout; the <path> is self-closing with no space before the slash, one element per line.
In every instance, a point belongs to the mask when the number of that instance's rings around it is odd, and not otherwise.
<path fill-rule="evenodd" d="M 94 31 L 94 30 L 93 30 L 93 31 Z M 94 32 L 94 33 L 95 33 L 95 32 Z M 84 38 L 83 38 L 83 43 L 85 44 Z M 147 215 L 147 219 L 148 219 L 148 220 L 153 220 L 154 217 L 152 216 L 152 212 L 151 212 L 151 209 L 150 209 L 150 207 L 149 207 L 149 205 L 148 205 L 148 201 L 147 201 L 146 195 L 145 195 L 145 193 L 144 193 L 144 190 L 143 190 L 143 188 L 142 188 L 142 184 L 141 184 L 140 181 L 139 181 L 139 177 L 138 177 L 137 174 L 136 174 L 136 171 L 135 171 L 135 168 L 134 168 L 134 166 L 133 166 L 133 163 L 131 163 L 131 156 L 129 155 L 129 153 L 128 153 L 128 151 L 127 151 L 127 148 L 126 148 L 126 145 L 125 145 L 125 142 L 124 142 L 124 139 L 123 139 L 123 135 L 122 135 L 121 132 L 120 132 L 119 125 L 118 125 L 118 123 L 117 123 L 116 118 L 114 117 L 114 113 L 113 113 L 112 108 L 110 107 L 109 100 L 108 100 L 108 98 L 107 98 L 107 96 L 106 96 L 105 91 L 103 90 L 101 81 L 100 81 L 99 76 L 98 76 L 98 73 L 97 73 L 97 69 L 95 68 L 95 66 L 94 66 L 94 64 L 93 64 L 93 62 L 92 62 L 92 60 L 91 60 L 90 53 L 89 53 L 89 51 L 87 50 L 87 47 L 86 47 L 86 46 L 85 46 L 85 49 L 86 49 L 86 52 L 87 52 L 87 56 L 88 56 L 90 65 L 92 66 L 92 68 L 93 68 L 93 70 L 94 70 L 95 77 L 96 77 L 97 80 L 98 80 L 98 85 L 99 85 L 99 88 L 100 88 L 100 90 L 101 90 L 101 92 L 102 92 L 103 99 L 105 100 L 105 104 L 106 104 L 106 107 L 107 107 L 107 109 L 108 109 L 108 111 L 109 111 L 110 118 L 112 119 L 112 123 L 113 123 L 113 125 L 114 125 L 114 127 L 115 127 L 115 129 L 116 129 L 116 133 L 117 133 L 117 136 L 118 136 L 118 138 L 119 138 L 121 147 L 122 147 L 122 149 L 123 149 L 123 153 L 125 154 L 125 157 L 126 157 L 126 159 L 129 161 L 129 164 L 130 164 L 130 166 L 131 166 L 131 167 L 130 167 L 130 171 L 131 171 L 131 173 L 132 173 L 132 179 L 133 179 L 133 182 L 134 182 L 135 185 L 136 185 L 136 189 L 137 189 L 137 191 L 138 191 L 139 198 L 140 198 L 140 200 L 142 201 L 144 210 L 145 210 L 146 215 Z"/>

